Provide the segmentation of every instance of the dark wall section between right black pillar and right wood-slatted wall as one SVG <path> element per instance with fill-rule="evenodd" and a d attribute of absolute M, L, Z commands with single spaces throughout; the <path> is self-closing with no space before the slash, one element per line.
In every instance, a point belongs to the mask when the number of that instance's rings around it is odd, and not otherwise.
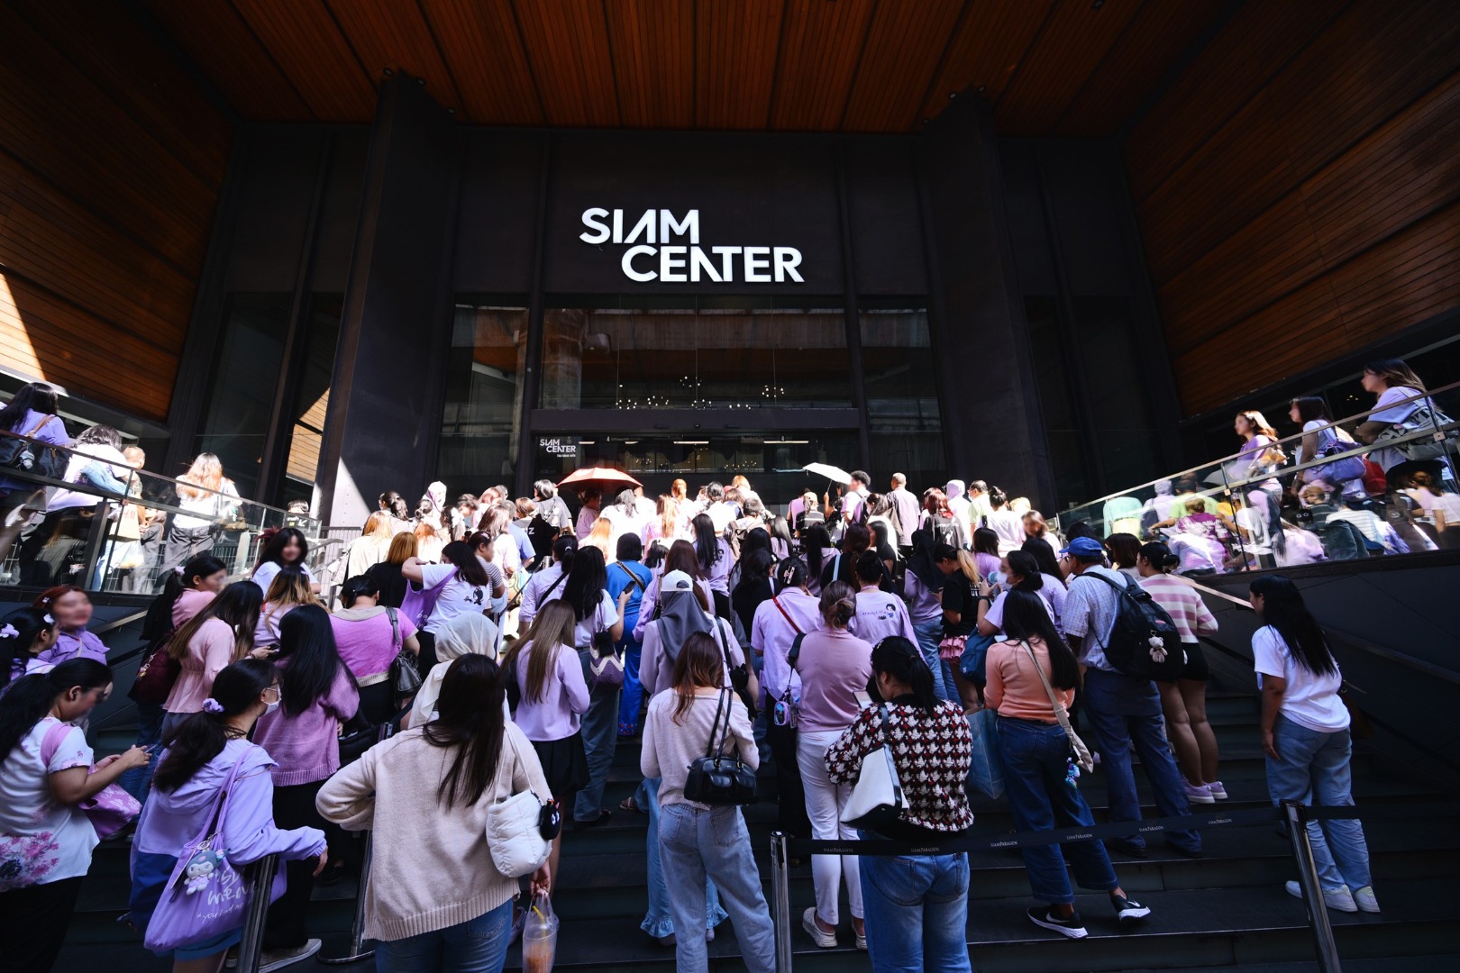
<path fill-rule="evenodd" d="M 1110 139 L 1003 139 L 1003 201 L 1060 503 L 1180 462 L 1175 394 Z"/>

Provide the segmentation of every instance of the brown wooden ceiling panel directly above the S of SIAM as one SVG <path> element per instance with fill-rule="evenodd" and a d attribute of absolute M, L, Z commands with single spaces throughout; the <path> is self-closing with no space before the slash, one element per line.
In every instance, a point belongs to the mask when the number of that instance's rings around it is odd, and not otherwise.
<path fill-rule="evenodd" d="M 602 0 L 514 0 L 549 125 L 618 125 Z"/>

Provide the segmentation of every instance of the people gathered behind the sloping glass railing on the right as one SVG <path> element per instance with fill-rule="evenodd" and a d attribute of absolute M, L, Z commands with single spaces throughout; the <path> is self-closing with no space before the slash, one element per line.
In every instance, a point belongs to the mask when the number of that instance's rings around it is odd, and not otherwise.
<path fill-rule="evenodd" d="M 1142 538 L 1162 540 L 1177 573 L 1193 578 L 1460 548 L 1457 433 L 1442 433 L 1453 420 L 1402 360 L 1371 362 L 1361 384 L 1375 401 L 1352 432 L 1323 398 L 1304 395 L 1288 407 L 1301 438 L 1285 448 L 1261 411 L 1242 410 L 1232 420 L 1238 452 L 1204 483 L 1196 473 L 1158 480 L 1149 496 L 1110 497 L 1064 519 L 1102 521 L 1124 544 L 1121 567 L 1134 567 Z"/>

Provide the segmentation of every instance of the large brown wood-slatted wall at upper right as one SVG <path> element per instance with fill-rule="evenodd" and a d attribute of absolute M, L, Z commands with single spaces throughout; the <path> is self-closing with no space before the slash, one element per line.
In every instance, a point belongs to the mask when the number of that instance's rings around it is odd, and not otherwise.
<path fill-rule="evenodd" d="M 1460 4 L 1245 3 L 1124 144 L 1186 416 L 1460 306 Z"/>

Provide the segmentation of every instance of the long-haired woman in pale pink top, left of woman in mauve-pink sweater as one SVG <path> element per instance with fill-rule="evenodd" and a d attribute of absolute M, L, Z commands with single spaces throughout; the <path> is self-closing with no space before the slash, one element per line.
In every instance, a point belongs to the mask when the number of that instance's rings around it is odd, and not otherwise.
<path fill-rule="evenodd" d="M 264 592 L 251 581 L 237 581 L 223 589 L 193 620 L 172 633 L 168 655 L 181 664 L 178 681 L 162 703 L 168 715 L 162 721 L 162 741 L 196 712 L 213 690 L 213 680 L 223 668 L 253 655 L 266 659 L 270 652 L 254 649 L 254 626 Z"/>

